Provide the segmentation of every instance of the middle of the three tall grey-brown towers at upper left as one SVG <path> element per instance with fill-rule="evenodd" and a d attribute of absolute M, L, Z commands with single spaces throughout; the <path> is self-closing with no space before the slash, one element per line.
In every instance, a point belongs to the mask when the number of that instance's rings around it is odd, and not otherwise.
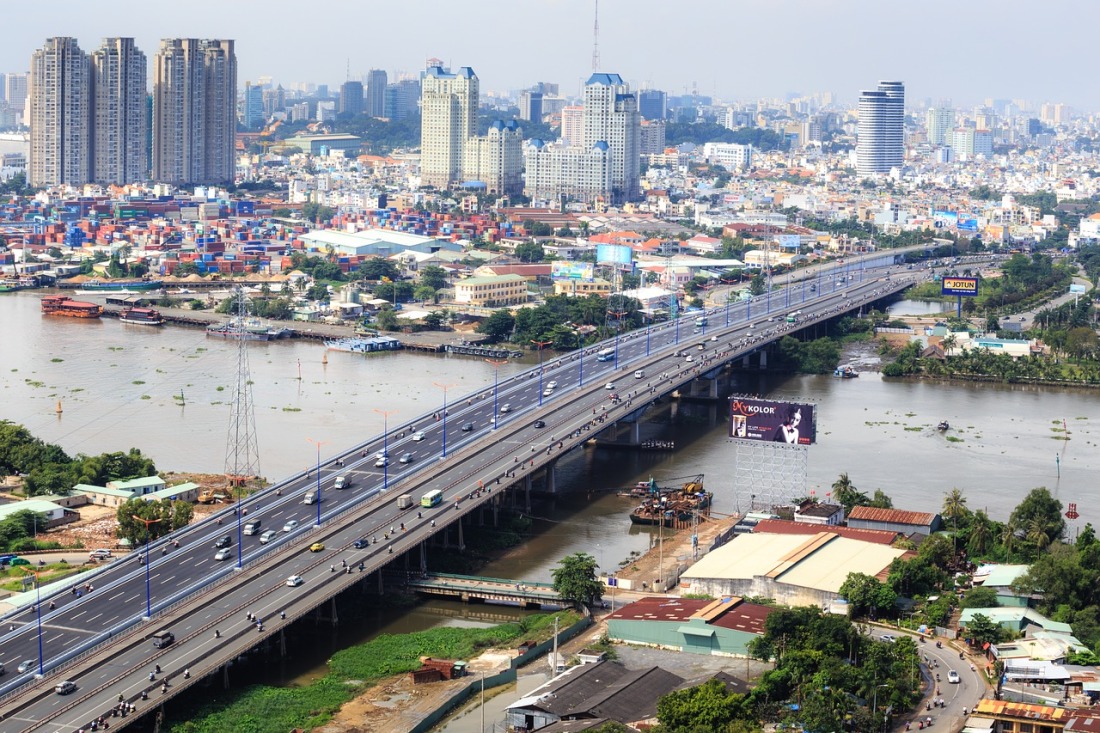
<path fill-rule="evenodd" d="M 128 184 L 148 177 L 145 54 L 133 39 L 105 39 L 91 54 L 92 180 Z"/>

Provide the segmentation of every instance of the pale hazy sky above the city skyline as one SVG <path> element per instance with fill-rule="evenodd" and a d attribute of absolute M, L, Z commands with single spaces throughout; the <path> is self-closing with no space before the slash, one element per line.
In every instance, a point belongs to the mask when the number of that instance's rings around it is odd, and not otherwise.
<path fill-rule="evenodd" d="M 238 80 L 329 84 L 351 68 L 471 66 L 482 95 L 536 81 L 579 94 L 591 74 L 596 0 L 0 0 L 0 73 L 26 70 L 54 35 L 86 52 L 133 36 L 237 41 Z M 986 98 L 1100 110 L 1096 0 L 601 0 L 603 72 L 631 87 L 722 100 L 832 91 L 855 101 L 879 79 L 967 108 Z"/>

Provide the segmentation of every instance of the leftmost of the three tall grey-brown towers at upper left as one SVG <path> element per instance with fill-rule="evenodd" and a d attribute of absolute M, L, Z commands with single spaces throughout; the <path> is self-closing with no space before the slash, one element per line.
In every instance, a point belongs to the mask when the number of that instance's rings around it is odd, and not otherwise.
<path fill-rule="evenodd" d="M 48 39 L 31 56 L 32 186 L 82 186 L 91 178 L 91 64 L 76 39 Z"/>

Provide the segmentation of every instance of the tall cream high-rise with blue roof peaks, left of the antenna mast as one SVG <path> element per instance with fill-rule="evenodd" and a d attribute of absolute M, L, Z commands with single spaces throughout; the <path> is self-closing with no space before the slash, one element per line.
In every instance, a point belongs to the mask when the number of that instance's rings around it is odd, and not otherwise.
<path fill-rule="evenodd" d="M 448 188 L 461 183 L 466 141 L 477 134 L 477 75 L 429 66 L 420 76 L 420 182 Z"/>

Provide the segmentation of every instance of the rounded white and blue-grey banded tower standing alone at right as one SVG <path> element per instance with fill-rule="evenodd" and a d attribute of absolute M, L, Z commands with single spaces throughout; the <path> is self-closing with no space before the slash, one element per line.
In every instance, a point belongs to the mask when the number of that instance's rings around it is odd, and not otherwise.
<path fill-rule="evenodd" d="M 905 160 L 905 86 L 879 81 L 859 92 L 856 168 L 861 176 L 890 173 Z"/>

